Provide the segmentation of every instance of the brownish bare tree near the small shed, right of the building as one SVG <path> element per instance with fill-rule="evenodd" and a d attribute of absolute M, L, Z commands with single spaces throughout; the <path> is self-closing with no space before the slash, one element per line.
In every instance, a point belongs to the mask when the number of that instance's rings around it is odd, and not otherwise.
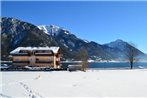
<path fill-rule="evenodd" d="M 79 52 L 79 56 L 80 56 L 80 60 L 82 61 L 81 62 L 81 65 L 82 65 L 81 70 L 86 72 L 87 63 L 88 63 L 88 53 L 84 48 L 81 48 L 80 52 Z"/>

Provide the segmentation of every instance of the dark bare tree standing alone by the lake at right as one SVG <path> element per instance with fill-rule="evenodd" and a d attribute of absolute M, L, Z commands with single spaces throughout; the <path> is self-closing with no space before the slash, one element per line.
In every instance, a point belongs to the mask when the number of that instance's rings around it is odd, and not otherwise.
<path fill-rule="evenodd" d="M 126 52 L 125 52 L 125 55 L 126 55 L 126 58 L 127 60 L 129 61 L 130 63 L 130 68 L 133 69 L 133 64 L 135 61 L 137 61 L 137 49 L 134 48 L 135 47 L 135 44 L 134 43 L 130 43 L 130 45 L 126 45 Z"/>

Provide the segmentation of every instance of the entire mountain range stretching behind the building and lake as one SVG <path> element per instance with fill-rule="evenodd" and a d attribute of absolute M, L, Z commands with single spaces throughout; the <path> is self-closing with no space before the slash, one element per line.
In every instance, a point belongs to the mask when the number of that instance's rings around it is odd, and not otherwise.
<path fill-rule="evenodd" d="M 129 44 L 122 40 L 104 45 L 83 40 L 67 29 L 55 25 L 35 26 L 15 18 L 3 17 L 1 19 L 1 57 L 3 60 L 8 60 L 9 52 L 20 46 L 59 46 L 64 60 L 79 60 L 79 50 L 82 47 L 93 60 L 117 60 L 124 57 L 125 45 Z M 136 51 L 140 55 L 145 55 L 138 49 Z"/>

